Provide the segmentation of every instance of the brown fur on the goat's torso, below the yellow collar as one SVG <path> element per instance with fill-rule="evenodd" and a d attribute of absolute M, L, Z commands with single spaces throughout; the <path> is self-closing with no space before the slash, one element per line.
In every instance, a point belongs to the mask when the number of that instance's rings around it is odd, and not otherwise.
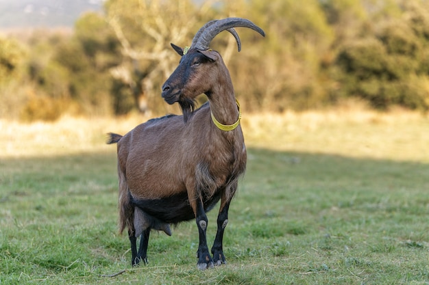
<path fill-rule="evenodd" d="M 188 124 L 177 116 L 141 124 L 127 133 L 118 143 L 120 229 L 132 224 L 134 208 L 128 191 L 139 199 L 188 191 L 192 201 L 210 198 L 231 177 L 241 174 L 246 160 L 244 139 L 240 127 L 233 132 L 218 130 L 206 105 Z M 197 188 L 203 192 L 197 193 Z M 231 198 L 233 193 L 226 195 Z"/>

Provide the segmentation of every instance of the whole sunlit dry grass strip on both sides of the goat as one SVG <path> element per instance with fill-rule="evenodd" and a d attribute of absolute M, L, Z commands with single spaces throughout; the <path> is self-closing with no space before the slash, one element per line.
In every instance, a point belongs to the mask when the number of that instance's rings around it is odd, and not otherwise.
<path fill-rule="evenodd" d="M 24 124 L 0 120 L 0 157 L 110 151 L 106 133 L 125 134 L 149 118 L 71 118 Z M 273 150 L 429 161 L 429 120 L 420 113 L 362 109 L 243 115 L 247 146 Z"/>

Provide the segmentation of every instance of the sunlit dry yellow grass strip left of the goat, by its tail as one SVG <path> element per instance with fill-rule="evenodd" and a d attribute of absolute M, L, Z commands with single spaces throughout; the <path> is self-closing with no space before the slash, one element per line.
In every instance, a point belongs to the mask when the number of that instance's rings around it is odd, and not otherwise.
<path fill-rule="evenodd" d="M 38 157 L 110 150 L 106 133 L 126 133 L 148 118 L 73 118 L 25 124 L 0 120 L 0 157 Z"/>

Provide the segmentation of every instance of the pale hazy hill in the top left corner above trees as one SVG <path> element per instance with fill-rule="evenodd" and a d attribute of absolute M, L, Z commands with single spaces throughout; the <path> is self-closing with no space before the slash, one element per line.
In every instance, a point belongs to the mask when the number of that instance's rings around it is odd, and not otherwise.
<path fill-rule="evenodd" d="M 0 0 L 0 29 L 72 27 L 87 11 L 101 11 L 103 0 Z"/>

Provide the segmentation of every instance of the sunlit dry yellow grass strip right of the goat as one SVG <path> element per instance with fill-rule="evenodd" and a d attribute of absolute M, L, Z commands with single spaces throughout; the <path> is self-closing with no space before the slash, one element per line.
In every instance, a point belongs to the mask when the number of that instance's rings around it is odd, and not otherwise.
<path fill-rule="evenodd" d="M 289 111 L 244 116 L 248 146 L 400 161 L 429 161 L 429 120 L 397 110 Z"/>

